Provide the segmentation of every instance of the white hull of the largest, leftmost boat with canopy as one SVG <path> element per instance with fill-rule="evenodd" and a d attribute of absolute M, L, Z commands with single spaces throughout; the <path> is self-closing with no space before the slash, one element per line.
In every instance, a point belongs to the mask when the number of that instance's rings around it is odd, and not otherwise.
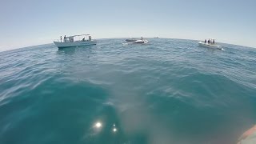
<path fill-rule="evenodd" d="M 81 41 L 81 42 L 54 42 L 58 48 L 75 47 L 75 46 L 92 46 L 96 45 L 96 41 Z"/>

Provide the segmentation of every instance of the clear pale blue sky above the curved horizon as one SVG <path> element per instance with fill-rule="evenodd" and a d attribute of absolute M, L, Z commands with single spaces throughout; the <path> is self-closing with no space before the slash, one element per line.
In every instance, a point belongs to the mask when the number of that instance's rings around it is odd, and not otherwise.
<path fill-rule="evenodd" d="M 1 2 L 0 51 L 93 38 L 204 39 L 256 47 L 255 0 L 8 0 Z"/>

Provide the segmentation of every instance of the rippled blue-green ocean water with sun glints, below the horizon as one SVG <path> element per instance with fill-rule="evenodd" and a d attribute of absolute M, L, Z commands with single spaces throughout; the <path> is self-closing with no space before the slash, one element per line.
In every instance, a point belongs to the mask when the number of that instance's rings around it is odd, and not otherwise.
<path fill-rule="evenodd" d="M 1 144 L 228 144 L 256 123 L 256 49 L 147 38 L 0 53 Z"/>

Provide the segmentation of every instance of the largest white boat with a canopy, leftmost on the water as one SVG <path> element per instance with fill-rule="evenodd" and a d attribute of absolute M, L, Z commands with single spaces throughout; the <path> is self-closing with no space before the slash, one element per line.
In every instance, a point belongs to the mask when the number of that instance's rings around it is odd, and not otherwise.
<path fill-rule="evenodd" d="M 81 40 L 81 37 L 82 38 Z M 90 34 L 81 34 L 73 35 L 69 37 L 61 38 L 61 42 L 54 42 L 54 44 L 60 49 L 65 47 L 74 47 L 74 46 L 91 46 L 96 45 L 96 41 L 92 40 Z"/>

